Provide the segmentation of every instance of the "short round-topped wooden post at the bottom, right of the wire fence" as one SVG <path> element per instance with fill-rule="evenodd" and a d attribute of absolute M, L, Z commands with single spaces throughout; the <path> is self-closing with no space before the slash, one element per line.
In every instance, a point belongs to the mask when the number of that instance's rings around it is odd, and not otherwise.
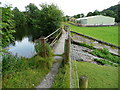
<path fill-rule="evenodd" d="M 79 87 L 87 90 L 87 88 L 88 88 L 88 77 L 87 76 L 84 76 L 84 75 L 80 76 Z"/>

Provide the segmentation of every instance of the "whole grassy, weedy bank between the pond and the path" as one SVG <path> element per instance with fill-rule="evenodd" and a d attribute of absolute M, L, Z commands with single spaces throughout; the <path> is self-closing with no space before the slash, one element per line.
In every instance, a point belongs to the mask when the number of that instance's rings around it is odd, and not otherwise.
<path fill-rule="evenodd" d="M 52 58 L 3 56 L 3 88 L 35 88 L 50 71 Z"/>

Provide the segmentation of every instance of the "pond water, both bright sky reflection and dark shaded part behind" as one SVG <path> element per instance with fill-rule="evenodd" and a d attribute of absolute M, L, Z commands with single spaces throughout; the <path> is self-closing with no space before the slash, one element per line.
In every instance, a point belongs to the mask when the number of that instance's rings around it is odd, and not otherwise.
<path fill-rule="evenodd" d="M 42 35 L 39 29 L 32 27 L 19 27 L 14 33 L 15 42 L 7 48 L 12 55 L 31 58 L 36 54 L 34 40 Z"/>

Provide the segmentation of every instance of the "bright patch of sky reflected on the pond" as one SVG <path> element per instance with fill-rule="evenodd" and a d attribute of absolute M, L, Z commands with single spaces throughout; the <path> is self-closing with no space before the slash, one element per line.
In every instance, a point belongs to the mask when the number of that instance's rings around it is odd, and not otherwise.
<path fill-rule="evenodd" d="M 24 37 L 22 41 L 15 41 L 15 45 L 10 44 L 8 51 L 18 57 L 30 58 L 36 53 L 34 45 L 33 42 L 29 41 L 28 37 Z"/>

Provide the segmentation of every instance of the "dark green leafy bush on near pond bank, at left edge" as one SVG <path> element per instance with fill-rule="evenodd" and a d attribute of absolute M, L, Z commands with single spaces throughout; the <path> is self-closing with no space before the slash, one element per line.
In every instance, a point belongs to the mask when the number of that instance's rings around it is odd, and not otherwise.
<path fill-rule="evenodd" d="M 3 56 L 2 73 L 3 76 L 19 72 L 28 68 L 27 59 L 6 54 Z"/>

